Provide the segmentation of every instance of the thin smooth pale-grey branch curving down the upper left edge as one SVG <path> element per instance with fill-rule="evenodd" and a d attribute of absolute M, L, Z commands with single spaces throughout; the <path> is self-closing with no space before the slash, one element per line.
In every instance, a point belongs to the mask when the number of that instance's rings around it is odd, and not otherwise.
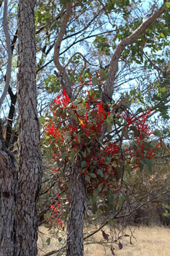
<path fill-rule="evenodd" d="M 11 40 L 10 40 L 9 31 L 8 31 L 8 27 L 7 27 L 7 1 L 8 0 L 4 0 L 3 29 L 5 32 L 8 59 L 7 59 L 7 74 L 6 74 L 5 86 L 3 88 L 3 93 L 1 94 L 1 98 L 0 98 L 0 107 L 3 104 L 3 101 L 7 95 L 7 91 L 9 88 L 9 82 L 11 79 L 11 66 L 12 66 Z"/>

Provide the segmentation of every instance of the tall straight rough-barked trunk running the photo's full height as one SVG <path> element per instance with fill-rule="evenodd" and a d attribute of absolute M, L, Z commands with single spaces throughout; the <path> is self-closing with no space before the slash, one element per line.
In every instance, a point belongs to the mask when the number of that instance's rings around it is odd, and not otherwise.
<path fill-rule="evenodd" d="M 37 255 L 36 203 L 41 185 L 41 151 L 35 84 L 35 0 L 18 5 L 19 196 L 17 256 Z"/>

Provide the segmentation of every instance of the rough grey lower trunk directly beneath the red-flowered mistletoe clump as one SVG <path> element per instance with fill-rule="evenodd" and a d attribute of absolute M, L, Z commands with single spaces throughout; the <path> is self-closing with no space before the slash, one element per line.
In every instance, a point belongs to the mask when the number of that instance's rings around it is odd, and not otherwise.
<path fill-rule="evenodd" d="M 67 220 L 67 256 L 83 256 L 83 227 L 86 213 L 86 182 L 80 162 L 70 173 L 70 210 Z"/>

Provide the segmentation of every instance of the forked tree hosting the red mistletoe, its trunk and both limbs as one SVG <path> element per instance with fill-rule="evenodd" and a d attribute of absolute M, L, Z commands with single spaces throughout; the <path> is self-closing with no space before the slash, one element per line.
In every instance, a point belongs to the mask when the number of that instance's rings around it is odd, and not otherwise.
<path fill-rule="evenodd" d="M 56 72 L 58 78 L 60 78 L 60 82 L 62 84 L 62 87 L 64 89 L 64 92 L 66 92 L 66 98 L 70 99 L 70 103 L 73 102 L 73 106 L 76 106 L 75 101 L 75 95 L 73 93 L 73 83 L 72 80 L 70 80 L 70 77 L 68 76 L 68 73 L 66 72 L 66 68 L 62 66 L 59 60 L 59 54 L 60 54 L 60 46 L 62 43 L 62 40 L 64 38 L 64 34 L 66 31 L 67 24 L 69 22 L 71 13 L 72 13 L 72 6 L 74 5 L 74 2 L 69 1 L 66 5 L 66 13 L 64 15 L 64 19 L 62 21 L 62 25 L 60 27 L 60 32 L 58 34 L 58 38 L 55 43 L 54 48 L 54 64 L 56 65 L 56 68 L 58 69 L 58 72 Z M 114 53 L 110 57 L 110 62 L 108 64 L 108 74 L 104 74 L 106 82 L 103 86 L 100 88 L 100 104 L 102 107 L 102 111 L 106 111 L 104 115 L 107 116 L 109 119 L 108 112 L 112 113 L 110 119 L 112 119 L 113 122 L 116 119 L 116 112 L 121 109 L 122 105 L 124 105 L 124 101 L 119 101 L 116 105 L 112 105 L 112 96 L 114 94 L 114 83 L 116 82 L 116 74 L 118 72 L 118 61 L 120 59 L 120 56 L 122 55 L 122 52 L 124 51 L 124 48 L 126 46 L 129 46 L 135 42 L 145 31 L 149 26 L 157 20 L 157 18 L 161 17 L 161 15 L 165 12 L 165 5 L 162 5 L 159 9 L 156 9 L 151 13 L 150 17 L 143 20 L 143 22 L 131 33 L 129 36 L 124 37 L 118 44 L 116 45 L 114 49 Z M 102 74 L 101 74 L 102 76 Z M 94 83 L 98 84 L 98 81 Z M 100 84 L 100 81 L 99 81 Z M 92 96 L 91 96 L 92 97 Z M 92 100 L 92 99 L 91 99 Z M 94 107 L 95 109 L 95 107 Z M 110 109 L 110 110 L 109 110 Z M 58 114 L 57 114 L 58 116 Z M 82 115 L 80 115 L 82 116 Z M 78 117 L 78 120 L 81 120 L 81 117 Z M 67 114 L 66 114 L 67 117 Z M 128 116 L 126 118 L 129 118 Z M 74 127 L 75 118 L 70 117 L 70 127 Z M 82 120 L 81 120 L 82 121 Z M 83 126 L 83 121 L 80 126 Z M 115 133 L 118 135 L 118 131 L 115 125 Z M 100 127 L 100 138 L 95 138 L 96 143 L 94 143 L 93 147 L 99 147 L 98 143 L 104 143 L 104 138 L 108 134 L 106 123 L 102 123 Z M 126 127 L 127 128 L 127 127 Z M 125 137 L 128 137 L 126 128 L 123 128 L 122 134 Z M 137 133 L 139 133 L 139 129 L 136 129 L 135 127 L 131 127 L 132 130 L 134 130 L 135 136 Z M 120 137 L 120 135 L 118 135 Z M 142 136 L 142 135 L 141 135 Z M 81 138 L 82 139 L 82 138 Z M 80 139 L 80 140 L 81 140 Z M 90 139 L 92 141 L 92 139 Z M 121 139 L 120 139 L 121 141 Z M 138 142 L 139 143 L 139 142 Z M 121 142 L 120 142 L 121 144 Z M 139 143 L 140 145 L 140 143 Z M 83 149 L 84 145 L 82 145 L 82 154 L 84 153 Z M 90 147 L 90 152 L 92 150 L 92 145 Z M 121 150 L 120 150 L 121 151 Z M 131 150 L 130 150 L 131 151 Z M 90 153 L 89 153 L 90 154 Z M 152 155 L 152 153 L 151 153 Z M 91 157 L 92 155 L 90 155 Z M 123 156 L 122 156 L 123 158 Z M 87 161 L 86 161 L 87 162 Z M 123 162 L 123 159 L 122 159 Z M 122 167 L 123 168 L 123 167 Z M 70 184 L 70 210 L 68 214 L 68 221 L 67 221 L 67 255 L 83 255 L 83 237 L 82 237 L 82 231 L 83 231 L 83 223 L 84 223 L 84 214 L 86 212 L 86 200 L 87 200 L 87 193 L 86 193 L 86 182 L 84 180 L 84 176 L 81 175 L 83 172 L 83 166 L 82 166 L 82 159 L 81 157 L 76 157 L 75 164 L 73 164 L 70 167 L 70 176 L 69 176 L 69 184 Z M 96 174 L 94 174 L 96 175 Z"/>

